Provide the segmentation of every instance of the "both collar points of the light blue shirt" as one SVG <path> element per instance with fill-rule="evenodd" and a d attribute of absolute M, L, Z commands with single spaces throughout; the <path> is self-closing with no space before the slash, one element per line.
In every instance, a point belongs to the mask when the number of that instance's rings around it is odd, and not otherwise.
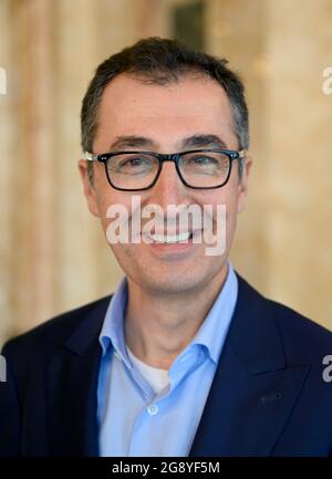
<path fill-rule="evenodd" d="M 217 364 L 238 295 L 238 280 L 232 265 L 228 262 L 226 281 L 214 302 L 210 311 L 197 331 L 196 336 L 187 346 L 195 344 L 205 346 L 210 358 Z M 115 354 L 131 368 L 132 363 L 127 355 L 124 341 L 124 317 L 127 305 L 128 288 L 127 279 L 124 277 L 113 294 L 106 311 L 103 327 L 98 337 L 103 356 L 112 344 Z"/>

